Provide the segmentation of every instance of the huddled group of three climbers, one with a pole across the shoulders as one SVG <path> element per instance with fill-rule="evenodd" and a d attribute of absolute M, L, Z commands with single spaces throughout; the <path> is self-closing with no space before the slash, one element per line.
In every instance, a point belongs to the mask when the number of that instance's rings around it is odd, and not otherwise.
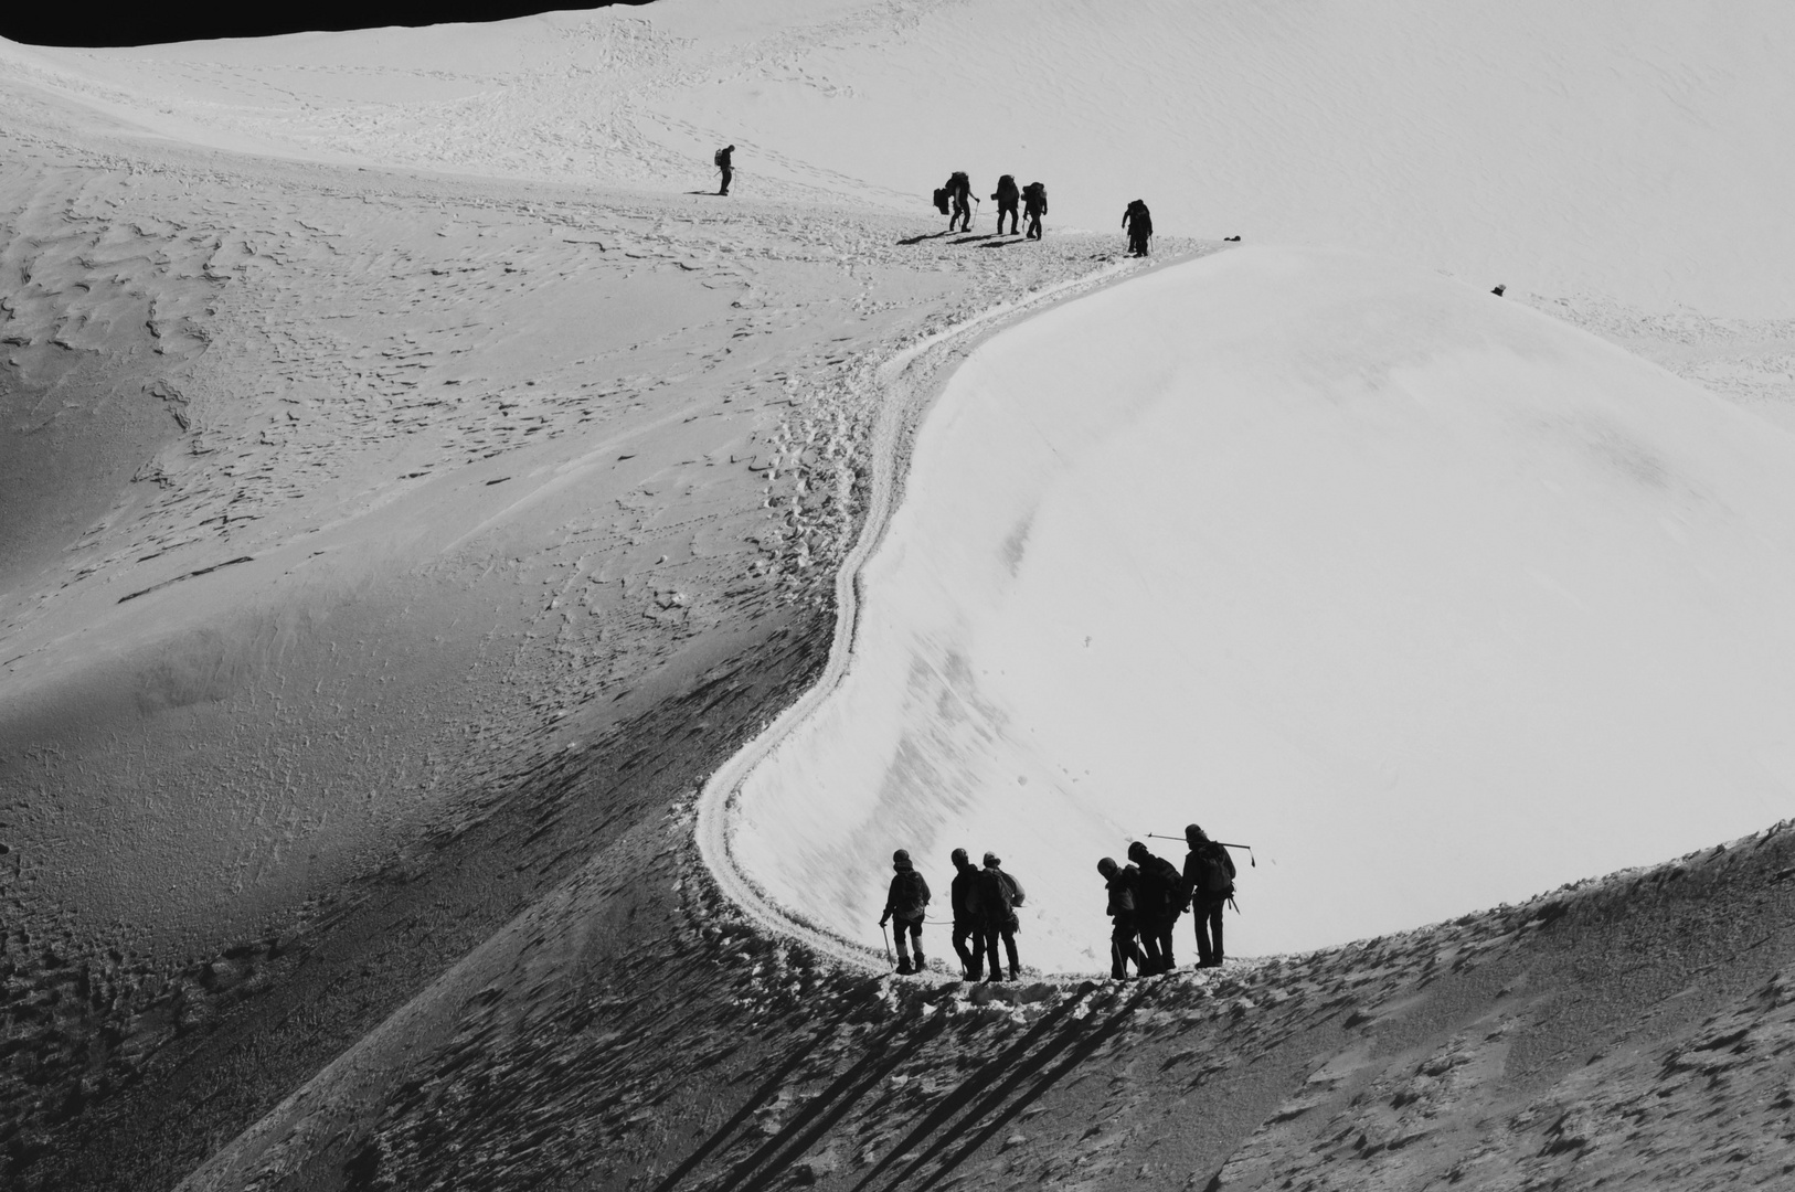
<path fill-rule="evenodd" d="M 1154 856 L 1140 840 L 1127 846 L 1127 865 L 1106 856 L 1097 862 L 1109 903 L 1109 975 L 1127 980 L 1127 964 L 1140 977 L 1178 968 L 1172 926 L 1185 910 L 1195 914 L 1197 968 L 1217 968 L 1222 953 L 1222 907 L 1233 898 L 1235 865 L 1228 849 L 1197 824 L 1185 828 L 1185 869 Z"/>

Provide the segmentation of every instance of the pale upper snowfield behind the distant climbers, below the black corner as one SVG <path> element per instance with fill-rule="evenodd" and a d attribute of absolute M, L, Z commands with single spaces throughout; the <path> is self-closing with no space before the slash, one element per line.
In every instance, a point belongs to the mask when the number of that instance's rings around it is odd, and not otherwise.
<path fill-rule="evenodd" d="M 659 0 L 0 70 L 183 140 L 926 212 L 968 169 L 1052 226 L 1357 246 L 1490 285 L 1795 314 L 1795 9 L 1759 0 Z M 989 203 L 987 203 L 989 214 Z"/>

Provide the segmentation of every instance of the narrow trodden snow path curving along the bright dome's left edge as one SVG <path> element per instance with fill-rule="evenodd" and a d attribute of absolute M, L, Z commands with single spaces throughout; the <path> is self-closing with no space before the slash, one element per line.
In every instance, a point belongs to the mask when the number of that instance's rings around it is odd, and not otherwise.
<path fill-rule="evenodd" d="M 1185 257 L 1178 257 L 1167 260 L 1165 264 L 1176 264 L 1183 259 Z M 786 738 L 790 738 L 792 732 L 804 723 L 804 720 L 817 711 L 847 677 L 847 668 L 854 661 L 856 630 L 860 627 L 862 573 L 867 560 L 872 557 L 872 551 L 876 551 L 885 540 L 885 531 L 890 526 L 890 515 L 903 497 L 903 486 L 908 476 L 908 456 L 899 451 L 905 438 L 903 433 L 905 429 L 914 429 L 923 415 L 926 415 L 933 399 L 939 397 L 948 381 L 951 381 L 951 372 L 941 381 L 939 386 L 930 386 L 928 379 L 933 377 L 935 368 L 939 368 L 946 357 L 951 357 L 957 352 L 969 354 L 973 346 L 976 346 L 976 341 L 982 341 L 989 334 L 996 334 L 1000 329 L 993 327 L 994 323 L 1009 321 L 1021 314 L 1034 314 L 1039 307 L 1050 305 L 1052 302 L 1077 296 L 1082 291 L 1099 289 L 1120 280 L 1124 275 L 1138 271 L 1142 271 L 1138 266 L 1118 260 L 1084 276 L 1055 282 L 1054 285 L 1046 285 L 1034 294 L 1016 302 L 998 303 L 980 311 L 964 323 L 957 323 L 946 330 L 926 336 L 917 343 L 898 350 L 889 361 L 880 364 L 878 386 L 883 391 L 883 397 L 880 400 L 880 411 L 872 429 L 872 497 L 867 503 L 867 517 L 860 526 L 860 537 L 854 540 L 853 549 L 842 560 L 842 567 L 835 576 L 835 639 L 829 644 L 829 661 L 824 664 L 822 677 L 817 679 L 815 686 L 779 713 L 770 725 L 766 725 L 752 741 L 736 750 L 729 761 L 718 767 L 718 770 L 704 784 L 704 790 L 698 793 L 698 822 L 695 828 L 698 855 L 704 858 L 704 863 L 711 871 L 718 889 L 722 889 L 723 894 L 763 930 L 804 944 L 806 948 L 827 955 L 840 964 L 880 973 L 887 971 L 887 959 L 867 944 L 847 939 L 840 932 L 822 926 L 820 923 L 811 923 L 810 919 L 804 919 L 797 912 L 774 901 L 772 896 L 766 894 L 766 890 L 761 889 L 761 885 L 736 863 L 734 853 L 729 847 L 729 826 L 731 819 L 738 813 L 738 795 L 747 777 L 756 770 L 756 767 L 784 745 Z M 923 368 L 917 375 L 919 364 L 928 364 L 928 368 Z"/>

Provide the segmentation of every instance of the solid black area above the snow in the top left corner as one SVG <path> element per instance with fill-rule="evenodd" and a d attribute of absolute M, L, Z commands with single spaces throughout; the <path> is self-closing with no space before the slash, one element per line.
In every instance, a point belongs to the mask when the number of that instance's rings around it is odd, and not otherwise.
<path fill-rule="evenodd" d="M 639 5 L 650 0 L 591 0 L 580 7 Z M 99 20 L 74 9 L 16 4 L 0 9 L 0 38 L 25 45 L 162 45 L 212 38 L 269 38 L 289 32 L 341 32 L 388 25 L 447 25 L 503 22 L 555 13 L 544 0 L 372 0 L 372 4 L 312 5 L 120 5 Z"/>

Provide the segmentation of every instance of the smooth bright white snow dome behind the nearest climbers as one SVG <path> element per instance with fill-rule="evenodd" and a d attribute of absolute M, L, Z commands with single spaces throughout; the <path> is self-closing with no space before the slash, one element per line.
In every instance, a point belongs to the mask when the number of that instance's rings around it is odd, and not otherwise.
<path fill-rule="evenodd" d="M 1224 253 L 993 339 L 862 591 L 844 682 L 732 810 L 738 863 L 862 942 L 896 846 L 941 917 L 948 851 L 998 851 L 1025 960 L 1090 969 L 1097 858 L 1188 820 L 1258 847 L 1231 950 L 1271 951 L 1795 788 L 1795 438 L 1355 255 Z"/>

